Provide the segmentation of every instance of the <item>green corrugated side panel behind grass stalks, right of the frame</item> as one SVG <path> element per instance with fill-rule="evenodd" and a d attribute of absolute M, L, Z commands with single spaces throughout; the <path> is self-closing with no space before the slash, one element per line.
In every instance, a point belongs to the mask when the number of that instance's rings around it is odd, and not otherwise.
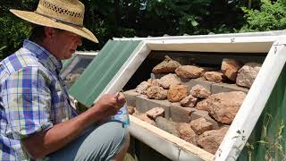
<path fill-rule="evenodd" d="M 286 66 L 268 98 L 239 161 L 286 160 Z"/>

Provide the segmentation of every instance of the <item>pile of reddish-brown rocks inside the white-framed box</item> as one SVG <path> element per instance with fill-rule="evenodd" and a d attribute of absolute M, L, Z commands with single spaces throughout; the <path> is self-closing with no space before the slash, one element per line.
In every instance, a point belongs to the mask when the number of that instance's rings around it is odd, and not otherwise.
<path fill-rule="evenodd" d="M 152 71 L 165 75 L 160 79 L 141 82 L 135 91 L 149 99 L 167 99 L 170 103 L 180 104 L 182 108 L 191 107 L 190 122 L 172 122 L 164 117 L 164 108 L 160 106 L 143 114 L 140 114 L 136 107 L 129 107 L 130 114 L 214 154 L 238 113 L 246 93 L 230 91 L 212 94 L 209 89 L 199 84 L 185 85 L 181 79 L 202 78 L 214 83 L 233 82 L 238 86 L 250 88 L 261 64 L 243 65 L 233 59 L 223 59 L 221 71 L 210 71 L 210 68 L 181 65 L 169 56 L 165 58 L 164 62 L 156 65 Z"/>

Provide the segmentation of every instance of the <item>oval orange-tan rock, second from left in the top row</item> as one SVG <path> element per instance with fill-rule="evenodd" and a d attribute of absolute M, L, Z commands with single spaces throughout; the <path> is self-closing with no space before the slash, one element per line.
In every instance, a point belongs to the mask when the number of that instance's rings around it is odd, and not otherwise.
<path fill-rule="evenodd" d="M 194 79 L 203 75 L 205 70 L 193 65 L 182 65 L 176 69 L 176 74 L 185 79 Z"/>

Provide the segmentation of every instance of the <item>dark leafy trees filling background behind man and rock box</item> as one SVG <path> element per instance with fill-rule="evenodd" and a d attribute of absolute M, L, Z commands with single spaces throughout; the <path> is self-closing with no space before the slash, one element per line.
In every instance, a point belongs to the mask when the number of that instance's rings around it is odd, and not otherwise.
<path fill-rule="evenodd" d="M 99 50 L 110 38 L 282 30 L 285 0 L 80 0 L 85 26 L 99 39 L 80 50 Z M 34 11 L 38 0 L 0 2 L 0 59 L 21 47 L 29 25 L 10 8 Z M 241 10 L 242 8 L 242 10 Z"/>

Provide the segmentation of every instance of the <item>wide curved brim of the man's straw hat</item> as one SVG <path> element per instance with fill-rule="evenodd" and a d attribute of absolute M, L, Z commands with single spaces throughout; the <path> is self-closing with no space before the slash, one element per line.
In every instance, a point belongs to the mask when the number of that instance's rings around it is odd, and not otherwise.
<path fill-rule="evenodd" d="M 50 18 L 47 18 L 45 16 L 42 16 L 34 12 L 27 12 L 27 11 L 13 10 L 13 9 L 11 9 L 10 12 L 25 21 L 29 21 L 31 23 L 35 23 L 41 26 L 56 28 L 60 30 L 67 30 L 79 35 L 80 37 L 88 38 L 89 40 L 98 43 L 96 36 L 90 30 L 84 27 L 78 27 L 75 25 L 65 24 L 60 21 L 54 21 Z"/>

